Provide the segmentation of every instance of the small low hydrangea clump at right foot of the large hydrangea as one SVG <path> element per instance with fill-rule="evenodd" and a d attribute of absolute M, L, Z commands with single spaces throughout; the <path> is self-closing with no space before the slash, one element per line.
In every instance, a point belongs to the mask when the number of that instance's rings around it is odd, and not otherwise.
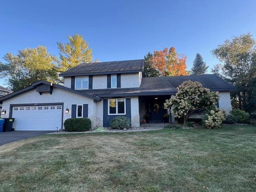
<path fill-rule="evenodd" d="M 226 119 L 226 113 L 224 110 L 219 110 L 217 107 L 215 110 L 210 110 L 209 114 L 206 114 L 206 120 L 204 125 L 208 129 L 214 129 L 220 127 L 222 122 Z"/>

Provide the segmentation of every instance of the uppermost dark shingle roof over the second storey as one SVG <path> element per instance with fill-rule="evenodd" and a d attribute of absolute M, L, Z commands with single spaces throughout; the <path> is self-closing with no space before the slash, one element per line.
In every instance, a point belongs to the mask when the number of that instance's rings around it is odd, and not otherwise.
<path fill-rule="evenodd" d="M 144 67 L 144 59 L 112 61 L 112 62 L 96 62 L 81 63 L 73 67 L 59 76 L 82 76 L 82 75 L 102 75 L 102 74 L 119 74 L 119 73 L 135 73 L 142 72 Z"/>

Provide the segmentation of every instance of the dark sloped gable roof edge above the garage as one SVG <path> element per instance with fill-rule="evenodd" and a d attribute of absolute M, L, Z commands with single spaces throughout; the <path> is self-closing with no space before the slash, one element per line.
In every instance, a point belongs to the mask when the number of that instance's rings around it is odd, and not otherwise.
<path fill-rule="evenodd" d="M 4 100 L 13 98 L 13 97 L 15 97 L 15 96 L 17 96 L 19 94 L 22 94 L 22 93 L 28 92 L 30 90 L 33 90 L 33 89 L 35 89 L 40 84 L 46 84 L 46 85 L 49 85 L 49 86 L 52 86 L 52 87 L 55 87 L 55 88 L 66 90 L 66 91 L 69 91 L 69 92 L 72 92 L 72 93 L 75 93 L 75 94 L 79 94 L 79 95 L 82 95 L 82 96 L 94 99 L 96 101 L 100 101 L 101 100 L 101 98 L 99 98 L 98 96 L 94 96 L 94 95 L 91 95 L 91 94 L 87 94 L 87 93 L 83 93 L 83 92 L 80 92 L 80 91 L 77 91 L 77 90 L 73 90 L 73 89 L 70 89 L 70 88 L 67 88 L 67 87 L 64 87 L 64 86 L 61 86 L 61 85 L 50 83 L 50 82 L 45 81 L 45 80 L 39 80 L 39 81 L 33 83 L 31 86 L 28 86 L 26 88 L 20 89 L 20 90 L 18 90 L 16 92 L 12 92 L 12 93 L 10 93 L 10 94 L 8 94 L 6 96 L 1 97 L 0 98 L 0 103 L 2 103 Z"/>

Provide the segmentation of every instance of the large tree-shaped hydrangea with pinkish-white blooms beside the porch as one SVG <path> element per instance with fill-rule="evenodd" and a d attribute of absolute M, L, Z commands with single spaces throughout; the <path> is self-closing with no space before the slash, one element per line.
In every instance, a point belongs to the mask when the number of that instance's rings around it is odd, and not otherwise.
<path fill-rule="evenodd" d="M 172 114 L 176 118 L 184 118 L 184 125 L 195 110 L 208 110 L 219 100 L 218 92 L 211 92 L 198 81 L 184 81 L 177 89 L 175 97 L 166 100 L 164 108 L 172 107 Z"/>

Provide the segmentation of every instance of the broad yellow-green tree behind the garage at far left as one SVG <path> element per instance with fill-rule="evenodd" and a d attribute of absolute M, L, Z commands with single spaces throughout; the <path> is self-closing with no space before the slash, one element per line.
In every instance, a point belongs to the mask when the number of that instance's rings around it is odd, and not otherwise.
<path fill-rule="evenodd" d="M 8 87 L 17 91 L 38 80 L 54 83 L 58 78 L 58 59 L 47 52 L 46 47 L 26 48 L 18 54 L 7 53 L 4 56 L 6 63 L 0 63 L 0 76 L 7 77 Z"/>

